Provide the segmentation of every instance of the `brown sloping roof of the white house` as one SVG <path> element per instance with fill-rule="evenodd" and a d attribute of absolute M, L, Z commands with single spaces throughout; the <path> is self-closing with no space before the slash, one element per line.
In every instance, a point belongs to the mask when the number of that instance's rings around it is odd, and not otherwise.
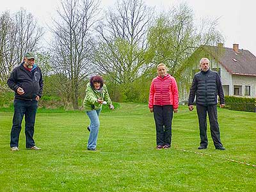
<path fill-rule="evenodd" d="M 232 48 L 208 45 L 203 46 L 203 49 L 209 52 L 230 74 L 256 76 L 256 57 L 252 52 L 243 49 L 235 52 Z"/>

